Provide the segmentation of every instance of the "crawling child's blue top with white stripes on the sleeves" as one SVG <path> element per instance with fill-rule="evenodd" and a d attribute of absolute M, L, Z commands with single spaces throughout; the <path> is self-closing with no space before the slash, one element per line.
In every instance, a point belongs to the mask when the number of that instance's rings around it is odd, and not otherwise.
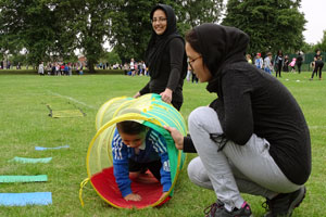
<path fill-rule="evenodd" d="M 163 192 L 167 192 L 172 183 L 167 146 L 164 138 L 158 131 L 150 129 L 146 135 L 145 142 L 138 149 L 139 153 L 136 154 L 135 149 L 127 146 L 122 141 L 118 131 L 115 130 L 112 140 L 113 174 L 123 197 L 133 193 L 131 180 L 129 179 L 129 158 L 138 163 L 149 163 L 161 158 L 161 184 L 163 186 Z"/>

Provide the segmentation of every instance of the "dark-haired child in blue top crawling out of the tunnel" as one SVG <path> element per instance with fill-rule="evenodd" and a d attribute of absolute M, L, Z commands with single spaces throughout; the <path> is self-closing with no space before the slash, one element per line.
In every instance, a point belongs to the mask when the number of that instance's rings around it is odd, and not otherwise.
<path fill-rule="evenodd" d="M 164 138 L 155 130 L 137 122 L 116 124 L 112 140 L 114 177 L 126 201 L 141 201 L 133 193 L 129 175 L 137 177 L 149 169 L 163 186 L 164 197 L 171 188 L 170 162 Z"/>

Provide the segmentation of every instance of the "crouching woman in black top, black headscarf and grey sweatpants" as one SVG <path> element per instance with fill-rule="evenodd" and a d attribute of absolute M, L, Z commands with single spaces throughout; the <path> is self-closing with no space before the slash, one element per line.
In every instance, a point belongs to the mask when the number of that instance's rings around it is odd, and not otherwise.
<path fill-rule="evenodd" d="M 290 216 L 311 173 L 310 133 L 288 89 L 246 61 L 248 43 L 243 31 L 215 24 L 186 35 L 190 66 L 218 98 L 191 112 L 191 138 L 165 128 L 177 149 L 199 155 L 188 176 L 216 194 L 206 216 L 251 216 L 240 192 L 266 197 L 265 216 Z"/>

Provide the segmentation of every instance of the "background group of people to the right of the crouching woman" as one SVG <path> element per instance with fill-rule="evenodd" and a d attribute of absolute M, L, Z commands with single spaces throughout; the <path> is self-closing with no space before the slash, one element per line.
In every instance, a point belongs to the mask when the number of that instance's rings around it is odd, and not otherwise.
<path fill-rule="evenodd" d="M 276 77 L 281 77 L 281 72 L 298 72 L 300 74 L 302 72 L 302 63 L 304 62 L 303 53 L 301 51 L 299 51 L 297 56 L 293 56 L 292 60 L 289 60 L 289 55 L 284 55 L 281 50 L 278 50 L 274 58 L 272 52 L 267 52 L 264 56 L 262 56 L 262 53 L 256 53 L 254 58 L 248 53 L 246 58 L 248 63 L 254 64 L 258 68 L 268 74 L 275 73 Z M 324 62 L 319 50 L 316 51 L 314 60 L 310 63 L 310 66 L 313 68 L 310 80 L 313 79 L 314 75 L 322 79 Z"/>

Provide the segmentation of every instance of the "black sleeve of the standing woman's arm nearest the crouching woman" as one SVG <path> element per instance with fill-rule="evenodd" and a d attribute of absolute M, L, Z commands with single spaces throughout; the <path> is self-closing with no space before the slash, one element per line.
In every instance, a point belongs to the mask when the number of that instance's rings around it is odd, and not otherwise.
<path fill-rule="evenodd" d="M 179 79 L 183 74 L 183 64 L 185 55 L 185 44 L 181 39 L 172 39 L 170 46 L 170 77 L 166 88 L 174 91 L 178 86 Z"/>

